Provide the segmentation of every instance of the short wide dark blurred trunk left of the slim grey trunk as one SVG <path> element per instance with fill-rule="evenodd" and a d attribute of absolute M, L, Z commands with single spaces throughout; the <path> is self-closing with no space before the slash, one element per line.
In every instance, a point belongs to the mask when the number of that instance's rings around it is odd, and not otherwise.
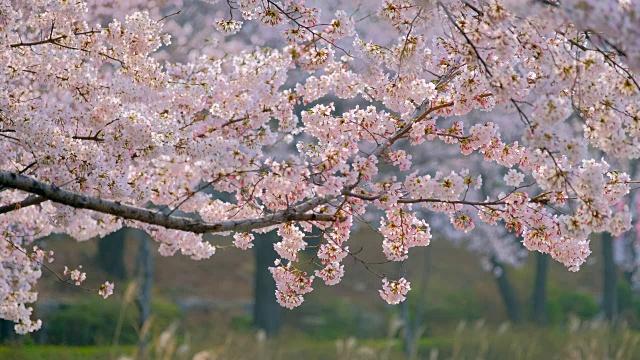
<path fill-rule="evenodd" d="M 122 280 L 127 277 L 124 265 L 124 244 L 129 229 L 122 228 L 98 241 L 96 261 L 109 277 Z"/>

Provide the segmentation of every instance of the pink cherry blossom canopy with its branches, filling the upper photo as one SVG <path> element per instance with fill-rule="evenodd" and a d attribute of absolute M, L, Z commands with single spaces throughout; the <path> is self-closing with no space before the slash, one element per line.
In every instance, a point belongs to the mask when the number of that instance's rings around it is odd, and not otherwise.
<path fill-rule="evenodd" d="M 177 0 L 0 0 L 0 317 L 18 332 L 40 327 L 27 304 L 53 254 L 34 241 L 51 233 L 135 227 L 199 260 L 275 231 L 293 308 L 345 259 L 366 264 L 358 221 L 389 261 L 429 245 L 435 212 L 572 271 L 591 233 L 631 227 L 637 0 L 208 2 L 198 32 Z M 371 276 L 392 304 L 411 288 Z"/>

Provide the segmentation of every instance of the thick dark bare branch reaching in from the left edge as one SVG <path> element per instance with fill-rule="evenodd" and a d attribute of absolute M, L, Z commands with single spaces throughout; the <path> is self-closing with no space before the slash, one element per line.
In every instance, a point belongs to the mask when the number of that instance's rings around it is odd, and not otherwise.
<path fill-rule="evenodd" d="M 336 220 L 333 215 L 307 213 L 307 211 L 310 211 L 316 206 L 326 202 L 326 199 L 324 198 L 315 198 L 300 205 L 293 206 L 290 209 L 265 215 L 261 218 L 204 222 L 182 216 L 167 215 L 135 206 L 124 205 L 117 201 L 105 200 L 95 196 L 74 193 L 72 191 L 8 171 L 0 171 L 0 185 L 39 195 L 46 200 L 51 200 L 77 209 L 93 210 L 124 219 L 137 220 L 151 225 L 159 225 L 167 229 L 182 230 L 199 234 L 226 231 L 251 231 L 290 221 Z"/>

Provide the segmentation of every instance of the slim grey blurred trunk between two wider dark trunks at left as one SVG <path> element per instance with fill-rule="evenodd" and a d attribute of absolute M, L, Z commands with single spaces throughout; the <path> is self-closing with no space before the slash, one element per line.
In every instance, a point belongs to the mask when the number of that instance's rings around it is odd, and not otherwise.
<path fill-rule="evenodd" d="M 139 329 L 143 329 L 146 322 L 151 316 L 151 287 L 153 281 L 153 258 L 151 249 L 149 246 L 149 239 L 147 236 L 139 236 L 140 250 L 138 251 L 138 298 L 137 304 L 140 309 L 140 319 L 138 321 Z M 138 339 L 138 354 L 142 358 L 147 357 L 147 347 L 149 343 L 149 334 L 141 331 L 140 338 Z"/>

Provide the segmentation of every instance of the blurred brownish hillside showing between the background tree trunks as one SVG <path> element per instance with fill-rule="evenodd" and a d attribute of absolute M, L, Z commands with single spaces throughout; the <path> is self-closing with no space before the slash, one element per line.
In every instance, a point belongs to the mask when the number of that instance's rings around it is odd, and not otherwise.
<path fill-rule="evenodd" d="M 228 244 L 226 238 L 213 238 L 217 244 Z M 358 258 L 370 263 L 384 262 L 381 252 L 380 236 L 371 229 L 363 228 L 349 240 L 352 251 L 359 251 Z M 52 269 L 62 272 L 64 265 L 84 266 L 88 274 L 89 287 L 96 286 L 108 279 L 94 265 L 97 241 L 78 243 L 65 238 L 50 239 L 45 244 L 55 251 L 55 262 Z M 134 273 L 137 241 L 126 242 L 126 263 L 129 274 Z M 155 244 L 154 244 L 155 248 Z M 593 254 L 588 263 L 577 273 L 567 271 L 560 264 L 551 261 L 549 272 L 549 294 L 559 292 L 580 291 L 597 297 L 601 287 L 601 261 L 599 261 L 599 242 L 592 244 Z M 362 249 L 360 251 L 360 249 Z M 430 271 L 425 273 L 425 248 L 412 249 L 407 264 L 408 277 L 413 289 L 410 301 L 415 302 L 423 277 L 427 276 L 427 307 L 440 309 L 441 312 L 467 308 L 474 317 L 482 317 L 492 323 L 500 323 L 506 319 L 501 299 L 497 292 L 492 274 L 482 270 L 477 255 L 457 247 L 452 243 L 437 239 L 429 246 Z M 173 257 L 162 257 L 154 252 L 154 295 L 158 299 L 169 302 L 199 303 L 208 308 L 206 314 L 198 316 L 199 321 L 207 316 L 221 316 L 230 324 L 234 316 L 248 315 L 247 304 L 252 301 L 254 254 L 251 250 L 236 249 L 219 250 L 211 259 L 194 261 L 177 254 Z M 383 263 L 370 265 L 378 273 L 396 277 L 398 264 Z M 305 303 L 299 309 L 287 311 L 287 315 L 296 321 L 304 319 L 307 314 L 323 307 L 341 306 L 343 308 L 358 307 L 371 312 L 389 312 L 389 306 L 379 298 L 377 290 L 380 279 L 368 271 L 362 264 L 351 259 L 345 260 L 346 275 L 342 283 L 336 286 L 325 286 L 321 281 L 314 284 L 314 291 L 307 295 Z M 534 257 L 529 256 L 525 266 L 519 269 L 508 268 L 507 276 L 516 289 L 517 296 L 526 313 L 533 279 L 535 274 Z M 126 282 L 116 284 L 116 292 L 122 294 Z M 40 301 L 51 300 L 73 302 L 97 295 L 61 283 L 51 274 L 44 273 L 38 284 Z M 120 302 L 118 296 L 107 302 Z M 448 309 L 451 308 L 451 309 Z M 460 310 L 460 309 L 457 309 Z M 462 313 L 464 315 L 465 312 Z M 302 316 L 301 316 L 302 315 Z M 446 316 L 445 316 L 446 315 Z M 456 314 L 440 314 L 455 317 Z M 468 314 L 467 314 L 468 315 Z M 453 320 L 449 319 L 447 320 Z M 313 322 L 313 319 L 307 319 Z"/>

